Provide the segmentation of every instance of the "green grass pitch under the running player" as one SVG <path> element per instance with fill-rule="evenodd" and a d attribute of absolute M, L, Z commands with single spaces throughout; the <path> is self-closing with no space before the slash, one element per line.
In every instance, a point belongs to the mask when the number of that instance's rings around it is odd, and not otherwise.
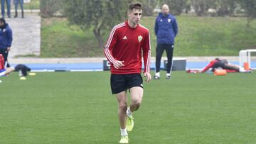
<path fill-rule="evenodd" d="M 164 76 L 164 72 L 161 73 Z M 118 143 L 110 72 L 1 77 L 0 143 Z M 144 82 L 130 143 L 256 143 L 256 74 Z"/>

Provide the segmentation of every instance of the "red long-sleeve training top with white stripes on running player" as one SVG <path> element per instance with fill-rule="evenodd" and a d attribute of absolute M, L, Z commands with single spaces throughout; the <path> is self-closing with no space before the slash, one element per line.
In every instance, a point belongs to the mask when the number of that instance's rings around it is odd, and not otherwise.
<path fill-rule="evenodd" d="M 140 24 L 131 28 L 125 21 L 112 29 L 104 54 L 111 64 L 112 74 L 134 74 L 142 71 L 142 55 L 144 72 L 150 72 L 150 49 L 149 30 Z M 124 61 L 124 66 L 115 69 L 113 63 L 116 60 Z"/>

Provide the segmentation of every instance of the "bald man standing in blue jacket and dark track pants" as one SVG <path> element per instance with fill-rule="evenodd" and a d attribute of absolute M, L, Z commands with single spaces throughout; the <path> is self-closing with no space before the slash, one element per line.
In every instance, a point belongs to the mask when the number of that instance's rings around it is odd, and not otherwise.
<path fill-rule="evenodd" d="M 169 6 L 164 4 L 161 13 L 156 18 L 154 31 L 157 38 L 156 46 L 156 74 L 154 79 L 160 79 L 161 56 L 166 50 L 168 63 L 166 70 L 166 79 L 171 79 L 171 67 L 173 63 L 174 38 L 178 33 L 178 24 L 176 18 L 169 13 Z"/>

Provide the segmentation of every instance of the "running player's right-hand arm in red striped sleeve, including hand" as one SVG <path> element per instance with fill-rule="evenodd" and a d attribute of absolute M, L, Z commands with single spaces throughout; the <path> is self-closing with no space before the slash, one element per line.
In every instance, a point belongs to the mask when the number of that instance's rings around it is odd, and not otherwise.
<path fill-rule="evenodd" d="M 143 50 L 143 60 L 144 60 L 144 77 L 146 77 L 146 82 L 151 79 L 150 74 L 150 57 L 151 57 L 151 45 L 150 45 L 150 34 L 147 32 L 144 36 L 144 43 L 142 45 Z"/>

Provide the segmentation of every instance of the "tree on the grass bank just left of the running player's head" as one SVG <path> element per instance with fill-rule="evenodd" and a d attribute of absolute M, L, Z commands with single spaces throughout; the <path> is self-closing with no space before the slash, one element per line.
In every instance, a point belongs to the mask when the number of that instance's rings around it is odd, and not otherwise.
<path fill-rule="evenodd" d="M 92 29 L 100 48 L 103 46 L 104 30 L 112 28 L 126 14 L 124 0 L 65 0 L 65 16 L 70 24 L 80 26 L 84 31 Z"/>

